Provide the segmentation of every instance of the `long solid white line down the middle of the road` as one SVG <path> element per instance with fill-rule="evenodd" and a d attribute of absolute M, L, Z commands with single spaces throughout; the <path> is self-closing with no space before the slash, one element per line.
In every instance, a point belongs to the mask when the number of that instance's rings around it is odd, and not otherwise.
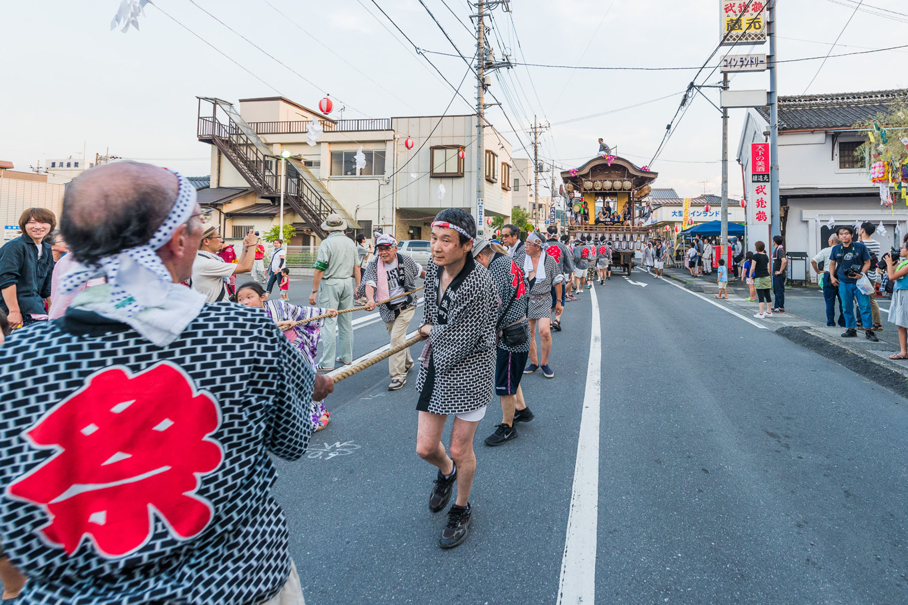
<path fill-rule="evenodd" d="M 602 372 L 602 335 L 596 288 L 589 290 L 593 306 L 590 325 L 587 388 L 580 415 L 577 462 L 571 489 L 568 533 L 561 559 L 558 605 L 596 602 L 596 532 L 599 510 L 599 394 Z"/>

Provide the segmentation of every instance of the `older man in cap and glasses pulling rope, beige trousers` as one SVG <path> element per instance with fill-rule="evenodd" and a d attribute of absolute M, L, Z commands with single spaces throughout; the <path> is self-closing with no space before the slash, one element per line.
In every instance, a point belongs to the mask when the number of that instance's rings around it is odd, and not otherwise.
<path fill-rule="evenodd" d="M 365 295 L 366 307 L 375 309 L 376 301 L 388 300 L 410 292 L 416 288 L 417 278 L 425 278 L 426 271 L 409 254 L 397 250 L 397 239 L 387 233 L 375 240 L 377 255 L 366 265 L 362 277 L 362 287 L 358 296 Z M 407 340 L 407 328 L 410 319 L 416 312 L 416 295 L 400 296 L 390 303 L 379 305 L 381 320 L 391 337 L 391 346 L 398 346 Z M 389 391 L 396 391 L 407 384 L 407 373 L 413 367 L 410 349 L 404 349 L 388 358 L 388 371 L 391 376 Z"/>

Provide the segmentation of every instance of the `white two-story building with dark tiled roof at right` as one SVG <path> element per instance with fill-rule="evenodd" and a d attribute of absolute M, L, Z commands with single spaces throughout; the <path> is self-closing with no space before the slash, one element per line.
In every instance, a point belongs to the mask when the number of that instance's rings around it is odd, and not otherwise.
<path fill-rule="evenodd" d="M 867 140 L 867 129 L 854 125 L 872 122 L 877 114 L 891 112 L 893 102 L 906 99 L 906 89 L 779 97 L 779 220 L 788 252 L 813 257 L 834 233 L 832 223 L 882 224 L 886 235 L 874 239 L 883 249 L 896 243 L 896 227 L 908 232 L 908 208 L 899 202 L 891 208 L 881 204 L 879 186 L 870 181 L 869 159 L 854 153 Z M 769 108 L 748 111 L 737 159 L 751 191 L 751 143 L 765 141 Z M 747 198 L 748 246 L 753 249 L 757 239 L 768 245 L 767 226 L 753 222 L 753 193 Z"/>

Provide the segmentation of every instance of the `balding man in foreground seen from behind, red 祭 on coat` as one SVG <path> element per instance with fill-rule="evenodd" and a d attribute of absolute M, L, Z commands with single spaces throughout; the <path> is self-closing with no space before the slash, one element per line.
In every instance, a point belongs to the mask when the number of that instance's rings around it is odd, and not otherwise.
<path fill-rule="evenodd" d="M 0 536 L 25 602 L 302 600 L 271 456 L 301 458 L 333 382 L 264 313 L 181 285 L 201 214 L 149 164 L 66 187 L 62 290 L 106 282 L 0 347 Z"/>

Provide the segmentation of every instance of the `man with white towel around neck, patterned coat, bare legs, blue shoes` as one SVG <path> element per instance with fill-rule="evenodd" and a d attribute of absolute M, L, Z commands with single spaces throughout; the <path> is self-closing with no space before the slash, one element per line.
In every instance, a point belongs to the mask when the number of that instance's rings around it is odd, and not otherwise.
<path fill-rule="evenodd" d="M 524 374 L 542 369 L 543 376 L 554 378 L 555 371 L 548 366 L 548 354 L 552 349 L 551 289 L 555 288 L 556 311 L 561 312 L 561 281 L 564 276 L 558 270 L 558 262 L 543 249 L 542 238 L 536 232 L 527 236 L 527 258 L 523 263 L 523 274 L 529 282 L 529 366 Z M 536 332 L 539 333 L 539 352 L 536 351 Z"/>

